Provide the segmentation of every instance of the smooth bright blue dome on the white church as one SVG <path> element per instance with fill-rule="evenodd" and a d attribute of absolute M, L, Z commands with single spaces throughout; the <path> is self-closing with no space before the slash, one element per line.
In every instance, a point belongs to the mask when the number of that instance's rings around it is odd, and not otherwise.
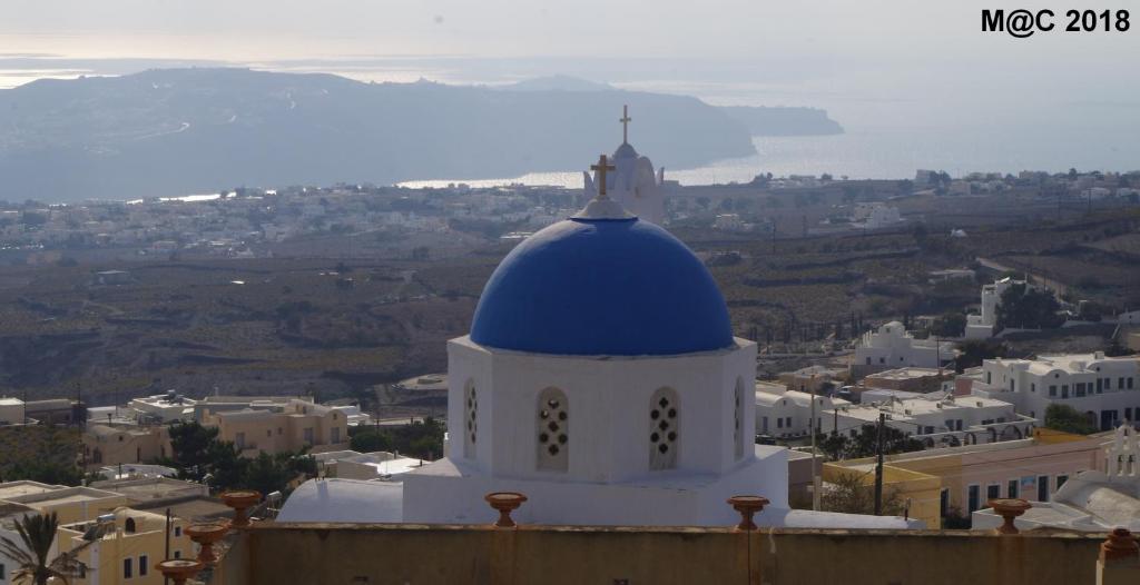
<path fill-rule="evenodd" d="M 636 219 L 571 219 L 511 250 L 479 300 L 471 339 L 563 355 L 675 355 L 733 345 L 708 269 Z"/>

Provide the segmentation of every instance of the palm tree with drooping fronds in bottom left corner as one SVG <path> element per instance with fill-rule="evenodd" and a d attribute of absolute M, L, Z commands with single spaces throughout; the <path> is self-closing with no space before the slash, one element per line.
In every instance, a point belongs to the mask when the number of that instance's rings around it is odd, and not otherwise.
<path fill-rule="evenodd" d="M 58 528 L 59 518 L 56 512 L 25 516 L 16 522 L 19 543 L 0 536 L 0 552 L 16 561 L 16 570 L 11 574 L 14 582 L 30 579 L 33 585 L 47 585 L 49 579 L 58 579 L 66 584 L 82 575 L 83 565 L 76 557 L 96 539 L 87 541 L 75 549 L 56 555 L 55 559 L 48 559 Z M 0 575 L 0 577 L 7 576 Z"/>

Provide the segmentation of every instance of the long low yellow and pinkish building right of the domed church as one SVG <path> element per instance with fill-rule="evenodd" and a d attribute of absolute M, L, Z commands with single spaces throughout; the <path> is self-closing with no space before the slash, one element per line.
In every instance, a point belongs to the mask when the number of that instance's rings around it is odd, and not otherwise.
<path fill-rule="evenodd" d="M 1100 436 L 1035 429 L 1033 438 L 888 455 L 883 493 L 910 500 L 912 518 L 942 528 L 944 517 L 964 518 L 995 497 L 1049 501 L 1080 471 L 1102 469 Z M 823 480 L 857 473 L 874 485 L 874 458 L 823 464 Z"/>

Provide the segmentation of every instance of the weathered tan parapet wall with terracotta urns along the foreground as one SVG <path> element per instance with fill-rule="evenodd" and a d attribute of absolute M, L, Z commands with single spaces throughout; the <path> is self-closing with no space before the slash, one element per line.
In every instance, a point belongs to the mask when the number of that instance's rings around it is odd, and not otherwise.
<path fill-rule="evenodd" d="M 215 583 L 1096 583 L 1105 535 L 261 524 Z"/>

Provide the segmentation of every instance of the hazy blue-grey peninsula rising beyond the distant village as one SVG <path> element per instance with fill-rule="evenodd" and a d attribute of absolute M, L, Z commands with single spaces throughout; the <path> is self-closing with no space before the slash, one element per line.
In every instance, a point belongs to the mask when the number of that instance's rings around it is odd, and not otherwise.
<path fill-rule="evenodd" d="M 616 120 L 597 113 L 626 104 L 638 146 L 671 168 L 752 155 L 754 135 L 842 132 L 821 109 L 716 107 L 563 76 L 473 86 L 152 69 L 0 90 L 0 199 L 564 171 L 596 156 L 597 137 L 613 132 Z"/>

